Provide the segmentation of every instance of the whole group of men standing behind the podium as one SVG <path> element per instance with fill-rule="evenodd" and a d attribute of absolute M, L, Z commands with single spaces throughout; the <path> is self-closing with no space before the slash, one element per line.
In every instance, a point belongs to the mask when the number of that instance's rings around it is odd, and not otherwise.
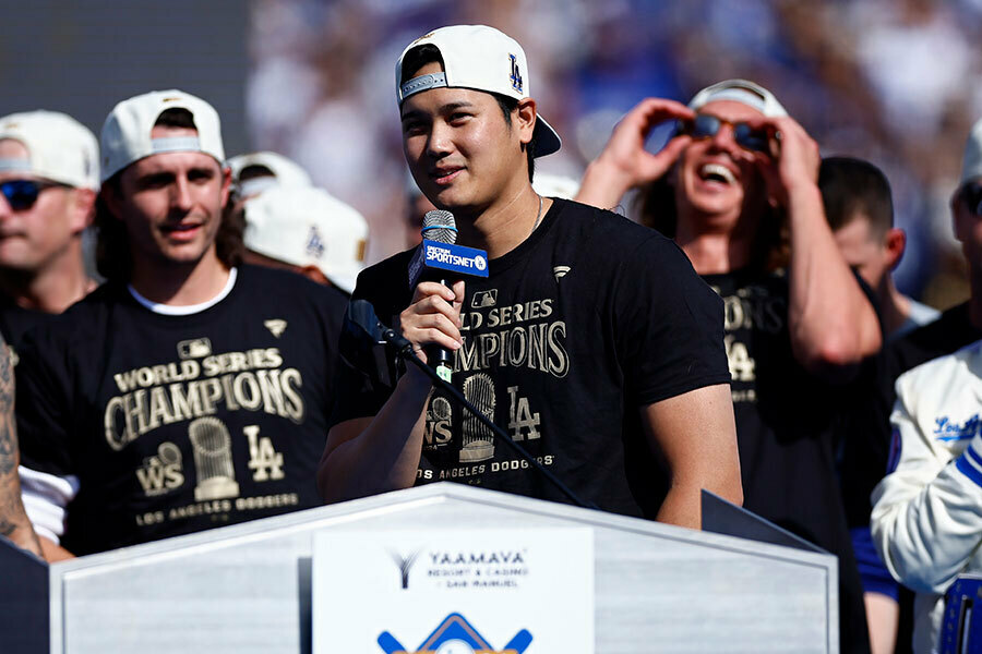
<path fill-rule="evenodd" d="M 457 25 L 394 59 L 411 221 L 452 211 L 484 278 L 418 281 L 417 247 L 366 268 L 359 211 L 280 155 L 226 158 L 181 90 L 123 99 L 98 143 L 0 118 L 0 534 L 59 560 L 444 480 L 565 501 L 340 338 L 367 300 L 591 506 L 698 529 L 712 491 L 838 557 L 842 651 L 930 652 L 982 569 L 982 121 L 949 201 L 972 293 L 939 313 L 893 281 L 888 175 L 823 160 L 758 83 L 642 99 L 556 183 L 516 40 Z"/>

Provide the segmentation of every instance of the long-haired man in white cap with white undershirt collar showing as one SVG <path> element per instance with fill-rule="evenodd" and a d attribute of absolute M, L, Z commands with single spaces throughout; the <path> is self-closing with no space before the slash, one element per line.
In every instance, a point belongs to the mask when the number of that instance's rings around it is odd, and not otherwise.
<path fill-rule="evenodd" d="M 27 512 L 51 556 L 316 506 L 344 295 L 241 264 L 218 114 L 123 100 L 101 135 L 107 283 L 26 339 Z"/>

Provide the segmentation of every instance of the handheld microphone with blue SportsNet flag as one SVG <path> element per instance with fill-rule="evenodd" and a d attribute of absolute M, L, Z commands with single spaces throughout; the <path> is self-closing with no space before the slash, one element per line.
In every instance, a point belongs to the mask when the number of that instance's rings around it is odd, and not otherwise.
<path fill-rule="evenodd" d="M 421 233 L 423 242 L 409 263 L 410 288 L 424 280 L 451 288 L 456 279 L 488 277 L 488 253 L 456 244 L 457 226 L 450 211 L 427 211 Z M 446 348 L 428 348 L 427 360 L 441 379 L 450 382 L 453 356 Z"/>

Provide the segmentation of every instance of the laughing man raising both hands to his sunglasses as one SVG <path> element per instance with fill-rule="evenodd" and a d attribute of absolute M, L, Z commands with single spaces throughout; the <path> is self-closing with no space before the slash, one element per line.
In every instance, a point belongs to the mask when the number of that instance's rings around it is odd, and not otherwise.
<path fill-rule="evenodd" d="M 655 125 L 676 121 L 658 153 Z M 648 98 L 614 129 L 577 197 L 613 207 L 639 190 L 643 223 L 672 238 L 726 304 L 744 507 L 839 556 L 843 652 L 869 651 L 859 572 L 836 477 L 845 382 L 881 346 L 818 191 L 818 146 L 744 80 L 688 106 Z"/>

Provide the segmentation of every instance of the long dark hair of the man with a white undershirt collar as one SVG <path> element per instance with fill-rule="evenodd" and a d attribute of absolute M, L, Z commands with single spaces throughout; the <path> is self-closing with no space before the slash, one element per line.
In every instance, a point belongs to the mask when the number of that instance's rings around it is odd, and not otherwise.
<path fill-rule="evenodd" d="M 154 125 L 167 128 L 197 129 L 194 117 L 187 109 L 167 109 L 157 117 Z M 125 169 L 123 169 L 125 170 Z M 96 269 L 99 275 L 109 281 L 129 281 L 133 271 L 133 253 L 130 251 L 130 241 L 127 235 L 127 227 L 115 216 L 106 203 L 106 193 L 120 193 L 120 175 L 122 170 L 103 182 L 103 191 L 96 198 L 95 227 L 96 227 Z M 238 266 L 242 263 L 246 245 L 242 234 L 246 231 L 246 221 L 242 215 L 232 213 L 232 203 L 226 204 L 221 213 L 221 225 L 215 234 L 215 251 L 218 261 L 227 267 Z"/>

